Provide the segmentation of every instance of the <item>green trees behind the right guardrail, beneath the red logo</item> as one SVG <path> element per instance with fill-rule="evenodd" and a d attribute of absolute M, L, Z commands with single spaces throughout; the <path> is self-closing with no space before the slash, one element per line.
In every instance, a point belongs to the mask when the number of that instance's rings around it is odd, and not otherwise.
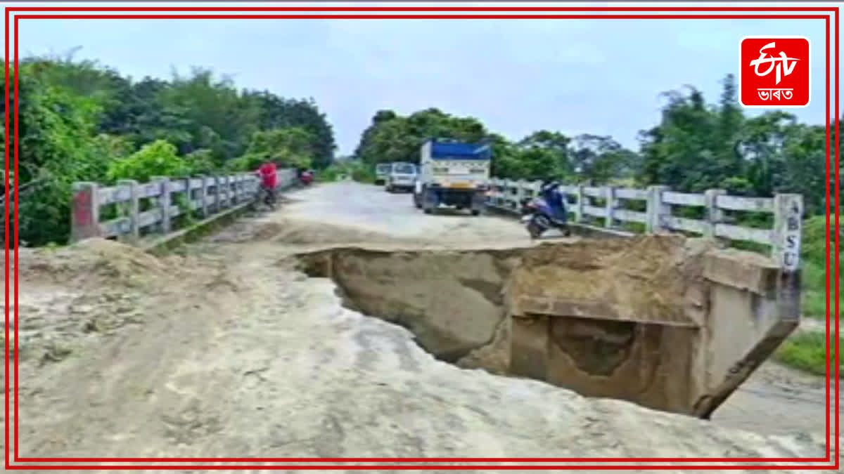
<path fill-rule="evenodd" d="M 825 207 L 825 129 L 800 124 L 782 111 L 746 118 L 733 78 L 718 105 L 705 105 L 695 89 L 666 94 L 662 121 L 641 132 L 639 182 L 676 191 L 722 188 L 733 195 L 803 194 L 807 212 Z M 834 143 L 835 133 L 831 133 Z"/>

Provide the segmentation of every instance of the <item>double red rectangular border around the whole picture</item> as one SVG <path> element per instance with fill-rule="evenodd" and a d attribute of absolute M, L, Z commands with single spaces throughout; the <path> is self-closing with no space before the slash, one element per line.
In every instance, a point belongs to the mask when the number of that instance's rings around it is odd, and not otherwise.
<path fill-rule="evenodd" d="M 840 137 L 838 135 L 839 132 L 839 116 L 838 116 L 838 93 L 839 93 L 839 80 L 838 80 L 838 57 L 840 56 L 840 52 L 838 51 L 838 44 L 839 44 L 839 37 L 838 37 L 838 14 L 839 8 L 838 7 L 31 7 L 31 8 L 5 8 L 5 25 L 6 25 L 6 90 L 7 94 L 5 97 L 5 104 L 6 104 L 6 143 L 7 146 L 5 147 L 5 158 L 6 158 L 6 195 L 8 196 L 9 191 L 9 180 L 8 180 L 8 138 L 9 138 L 9 130 L 8 130 L 8 114 L 9 114 L 9 94 L 8 94 L 8 85 L 9 85 L 9 67 L 8 67 L 8 57 L 9 57 L 9 13 L 11 12 L 613 12 L 613 11 L 623 11 L 623 12 L 667 12 L 667 11 L 678 11 L 678 12 L 827 12 L 827 13 L 834 13 L 835 14 L 835 41 L 836 41 L 836 58 L 835 58 L 835 73 L 836 73 L 836 81 L 835 81 L 835 101 L 836 101 L 836 116 L 835 116 L 835 130 L 836 130 L 836 143 L 835 143 L 835 151 L 836 151 L 836 190 L 835 190 L 835 199 L 836 203 L 838 202 L 838 150 L 839 150 L 839 142 Z M 256 14 L 246 14 L 246 15 L 231 15 L 231 14 L 223 14 L 223 15 L 208 15 L 208 14 L 100 14 L 100 15 L 93 15 L 93 14 L 37 14 L 37 15 L 15 15 L 14 16 L 14 93 L 15 97 L 17 97 L 18 93 L 18 25 L 19 19 L 825 19 L 825 31 L 826 31 L 826 116 L 825 116 L 825 129 L 826 129 L 826 192 L 827 197 L 831 197 L 830 195 L 830 19 L 832 17 L 829 14 L 786 14 L 786 15 L 773 15 L 773 14 L 531 14 L 531 15 L 524 15 L 524 14 L 468 14 L 468 15 L 443 15 L 443 14 L 417 14 L 417 15 L 408 15 L 408 14 L 268 14 L 268 15 L 256 15 Z M 14 106 L 14 138 L 15 138 L 15 148 L 14 148 L 14 171 L 15 175 L 17 175 L 18 170 L 18 102 L 15 101 Z M 15 229 L 15 245 L 14 245 L 14 353 L 17 355 L 18 352 L 18 184 L 17 181 L 14 183 L 14 229 Z M 827 219 L 826 219 L 826 234 L 827 234 L 827 250 L 829 250 L 829 237 L 830 237 L 830 200 L 827 200 Z M 8 200 L 5 202 L 6 207 L 6 215 L 8 216 Z M 836 213 L 836 222 L 835 222 L 835 250 L 836 250 L 836 258 L 835 258 L 835 269 L 837 273 L 838 268 L 838 206 L 835 209 Z M 6 234 L 8 235 L 8 219 L 6 220 Z M 6 268 L 6 327 L 8 328 L 9 323 L 9 268 L 8 268 L 8 254 L 9 254 L 9 244 L 8 240 L 6 242 L 6 261 L 5 261 L 5 268 Z M 826 333 L 830 334 L 830 259 L 829 259 L 829 251 L 827 251 L 827 261 L 826 261 L 826 296 L 827 296 L 827 305 L 826 305 Z M 836 400 L 838 399 L 838 380 L 839 380 L 839 369 L 838 369 L 838 280 L 836 278 L 835 283 L 835 321 L 836 321 L 836 328 L 835 328 L 835 372 L 836 372 Z M 8 331 L 8 329 L 7 329 Z M 71 466 L 58 466 L 58 465 L 35 465 L 35 466 L 21 466 L 21 465 L 11 465 L 9 459 L 9 423 L 8 423 L 8 415 L 9 415 L 9 401 L 8 401 L 8 389 L 9 389 L 9 381 L 8 381 L 8 374 L 9 374 L 9 358 L 8 358 L 8 337 L 5 338 L 5 348 L 6 353 L 4 357 L 6 358 L 6 392 L 4 393 L 5 398 L 5 409 L 6 409 L 6 461 L 5 467 L 9 470 L 20 470 L 20 469 L 43 469 L 43 470 L 56 470 L 56 469 L 70 469 L 70 470 L 86 470 L 86 469 L 125 469 L 125 470 L 138 470 L 138 469 L 152 469 L 152 470 L 162 470 L 162 469 L 208 469 L 208 470 L 219 470 L 219 469 L 232 469 L 232 470 L 241 470 L 241 469 L 301 469 L 301 470 L 313 470 L 313 469 L 322 469 L 322 470 L 333 470 L 333 469 L 346 469 L 346 470 L 363 470 L 363 469 L 396 469 L 396 470 L 408 470 L 408 469 L 440 469 L 440 470 L 470 470 L 470 469 L 493 469 L 493 470 L 514 470 L 514 469 L 570 469 L 570 470 L 585 470 L 585 469 L 609 469 L 609 470 L 621 470 L 621 469 L 641 469 L 642 467 L 646 466 L 639 466 L 639 465 L 630 465 L 630 466 L 436 466 L 436 465 L 422 465 L 422 466 L 197 466 L 197 465 L 181 465 L 181 466 L 165 466 L 165 465 L 153 465 L 153 466 L 138 466 L 138 465 L 129 465 L 129 466 L 83 466 L 83 465 L 71 465 Z M 149 461 L 149 462 L 164 462 L 164 461 L 204 461 L 204 462 L 266 462 L 266 461 L 328 461 L 328 462 L 354 462 L 354 461 L 399 461 L 399 462 L 432 462 L 432 461 L 452 461 L 452 462 L 472 462 L 472 461 L 527 461 L 527 462 L 536 462 L 536 461 L 573 461 L 573 462 L 593 462 L 593 461 L 604 461 L 604 462 L 619 462 L 619 461 L 655 461 L 655 462 L 700 462 L 700 461 L 738 461 L 738 462 L 748 462 L 748 461 L 831 461 L 830 456 L 830 345 L 827 342 L 826 347 L 826 355 L 827 355 L 827 372 L 826 372 L 826 414 L 825 417 L 825 425 L 826 425 L 826 452 L 827 456 L 825 458 L 20 458 L 18 456 L 18 387 L 17 387 L 17 380 L 18 380 L 18 364 L 17 364 L 17 357 L 14 358 L 14 375 L 15 375 L 15 402 L 14 402 L 14 461 L 15 462 L 104 462 L 104 461 L 112 461 L 112 462 L 138 462 L 138 461 Z M 839 428 L 839 410 L 836 410 L 835 414 L 836 418 L 836 434 L 838 434 Z M 668 466 L 647 466 L 649 469 L 654 470 L 666 470 L 666 469 L 725 469 L 725 470 L 736 470 L 736 469 L 786 469 L 786 470 L 793 470 L 793 469 L 807 469 L 807 470 L 825 470 L 825 469 L 838 469 L 839 467 L 839 446 L 840 440 L 839 436 L 836 436 L 836 445 L 835 445 L 835 466 L 772 466 L 772 465 L 760 465 L 760 466 L 699 466 L 699 465 L 685 465 L 685 466 L 677 466 L 677 465 L 668 465 Z"/>

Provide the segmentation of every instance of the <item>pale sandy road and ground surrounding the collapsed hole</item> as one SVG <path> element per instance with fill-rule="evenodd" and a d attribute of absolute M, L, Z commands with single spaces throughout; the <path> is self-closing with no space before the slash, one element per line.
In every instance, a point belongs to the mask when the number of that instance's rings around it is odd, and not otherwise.
<path fill-rule="evenodd" d="M 823 381 L 775 364 L 704 422 L 437 361 L 286 257 L 531 245 L 524 229 L 353 183 L 290 198 L 163 259 L 99 240 L 21 251 L 19 456 L 824 455 Z"/>

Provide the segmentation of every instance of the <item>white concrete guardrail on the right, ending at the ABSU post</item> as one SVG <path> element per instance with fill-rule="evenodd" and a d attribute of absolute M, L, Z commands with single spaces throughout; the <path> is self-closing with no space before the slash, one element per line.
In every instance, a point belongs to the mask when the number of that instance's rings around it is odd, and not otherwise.
<path fill-rule="evenodd" d="M 518 213 L 522 199 L 536 197 L 540 181 L 490 181 L 492 191 L 489 205 L 511 213 Z M 728 196 L 727 191 L 712 189 L 703 194 L 671 191 L 668 186 L 649 186 L 635 189 L 614 186 L 560 186 L 569 197 L 568 210 L 574 222 L 585 224 L 588 218 L 603 218 L 605 229 L 619 229 L 619 224 L 643 224 L 649 234 L 688 232 L 726 240 L 744 240 L 771 245 L 771 257 L 786 272 L 799 266 L 800 238 L 803 216 L 803 196 L 777 194 L 775 197 Z M 595 200 L 603 205 L 593 205 Z M 645 202 L 645 210 L 633 211 L 622 207 L 624 202 Z M 572 203 L 573 202 L 573 203 Z M 640 206 L 641 207 L 641 206 Z M 674 207 L 702 207 L 705 219 L 682 218 L 672 213 Z M 730 224 L 725 211 L 744 211 L 773 214 L 771 229 L 755 229 Z"/>

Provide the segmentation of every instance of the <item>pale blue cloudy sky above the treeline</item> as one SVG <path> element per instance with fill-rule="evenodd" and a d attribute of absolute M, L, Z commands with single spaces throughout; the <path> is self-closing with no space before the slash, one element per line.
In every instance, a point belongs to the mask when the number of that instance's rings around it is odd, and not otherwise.
<path fill-rule="evenodd" d="M 452 5 L 461 4 L 483 5 Z M 578 4 L 584 3 L 570 3 Z M 727 4 L 741 5 L 706 3 Z M 801 121 L 824 123 L 821 19 L 22 19 L 19 53 L 78 47 L 77 59 L 95 59 L 135 79 L 208 67 L 230 75 L 239 88 L 312 97 L 333 125 L 339 155 L 354 151 L 376 110 L 407 115 L 430 107 L 474 116 L 511 140 L 547 129 L 611 135 L 637 148 L 637 133 L 659 121 L 661 92 L 689 84 L 708 102 L 717 101 L 722 78 L 738 73 L 739 41 L 749 35 L 809 38 L 811 103 L 788 111 Z M 762 111 L 745 110 L 748 116 Z"/>

